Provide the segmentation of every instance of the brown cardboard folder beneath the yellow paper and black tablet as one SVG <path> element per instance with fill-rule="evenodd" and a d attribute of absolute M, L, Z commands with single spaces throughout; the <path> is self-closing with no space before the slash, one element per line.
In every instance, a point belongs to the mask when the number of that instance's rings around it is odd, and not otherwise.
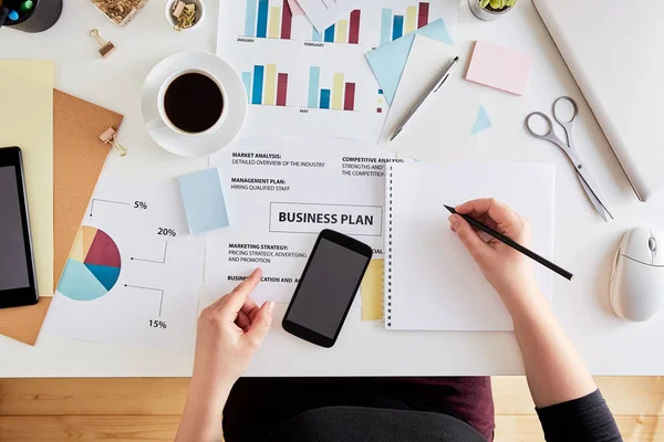
<path fill-rule="evenodd" d="M 53 281 L 55 287 L 111 146 L 100 139 L 123 116 L 53 91 Z M 0 334 L 34 345 L 52 297 L 0 309 Z"/>

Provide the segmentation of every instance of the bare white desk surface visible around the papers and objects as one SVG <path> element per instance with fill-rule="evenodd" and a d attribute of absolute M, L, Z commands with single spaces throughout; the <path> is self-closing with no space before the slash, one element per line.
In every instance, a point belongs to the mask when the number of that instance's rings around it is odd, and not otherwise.
<path fill-rule="evenodd" d="M 224 0 L 231 1 L 231 0 Z M 200 30 L 176 33 L 164 18 L 164 0 L 152 0 L 125 29 L 83 0 L 65 1 L 61 20 L 41 34 L 0 30 L 0 59 L 54 59 L 55 86 L 124 114 L 126 158 L 111 155 L 105 173 L 135 178 L 173 177 L 206 167 L 206 159 L 183 159 L 162 150 L 143 128 L 139 96 L 147 72 L 184 50 L 214 52 L 217 1 L 207 1 Z M 102 60 L 87 35 L 98 28 L 117 46 Z M 589 32 L 592 30 L 589 28 Z M 664 229 L 664 193 L 641 203 L 632 192 L 608 141 L 588 108 L 547 30 L 529 1 L 492 22 L 476 20 L 459 0 L 457 39 L 488 39 L 535 57 L 523 97 L 486 90 L 494 127 L 483 135 L 486 160 L 552 162 L 557 166 L 554 261 L 575 273 L 554 278 L 553 308 L 594 375 L 664 375 L 664 312 L 645 324 L 629 324 L 611 312 L 608 298 L 613 254 L 626 229 Z M 553 99 L 570 95 L 579 104 L 577 146 L 612 203 L 616 220 L 603 223 L 585 198 L 567 158 L 553 145 L 530 138 L 523 118 L 550 113 Z M 535 227 L 537 228 L 537 227 Z M 336 346 L 329 350 L 293 339 L 281 329 L 284 306 L 252 361 L 248 376 L 418 376 L 520 375 L 520 354 L 511 333 L 398 333 L 380 323 L 349 316 Z M 193 355 L 127 348 L 41 336 L 34 348 L 0 336 L 0 377 L 178 377 L 190 376 Z"/>

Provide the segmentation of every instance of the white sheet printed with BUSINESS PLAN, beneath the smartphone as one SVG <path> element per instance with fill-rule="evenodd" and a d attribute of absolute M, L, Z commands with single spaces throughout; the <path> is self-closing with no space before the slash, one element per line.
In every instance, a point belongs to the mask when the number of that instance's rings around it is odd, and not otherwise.
<path fill-rule="evenodd" d="M 232 217 L 228 229 L 208 235 L 201 306 L 259 266 L 262 282 L 251 296 L 288 303 L 323 229 L 354 236 L 382 257 L 384 170 L 402 161 L 369 141 L 264 135 L 243 135 L 214 155 Z"/>

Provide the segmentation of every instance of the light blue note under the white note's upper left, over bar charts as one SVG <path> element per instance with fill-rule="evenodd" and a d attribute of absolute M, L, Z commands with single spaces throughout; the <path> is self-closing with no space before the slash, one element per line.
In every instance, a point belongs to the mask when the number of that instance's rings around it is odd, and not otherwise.
<path fill-rule="evenodd" d="M 392 104 L 396 94 L 396 87 L 398 86 L 404 67 L 406 67 L 406 61 L 408 60 L 411 46 L 416 34 L 428 36 L 443 43 L 454 44 L 449 32 L 447 32 L 445 21 L 438 19 L 426 27 L 419 28 L 366 53 L 369 65 L 378 81 L 388 104 Z"/>

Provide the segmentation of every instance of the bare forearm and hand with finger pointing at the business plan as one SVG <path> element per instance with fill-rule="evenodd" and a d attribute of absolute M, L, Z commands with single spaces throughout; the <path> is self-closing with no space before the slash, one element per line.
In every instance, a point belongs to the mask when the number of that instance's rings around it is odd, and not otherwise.
<path fill-rule="evenodd" d="M 196 333 L 194 375 L 176 442 L 224 440 L 221 413 L 230 389 L 242 375 L 272 324 L 274 303 L 259 307 L 249 295 L 261 271 L 203 311 Z"/>

